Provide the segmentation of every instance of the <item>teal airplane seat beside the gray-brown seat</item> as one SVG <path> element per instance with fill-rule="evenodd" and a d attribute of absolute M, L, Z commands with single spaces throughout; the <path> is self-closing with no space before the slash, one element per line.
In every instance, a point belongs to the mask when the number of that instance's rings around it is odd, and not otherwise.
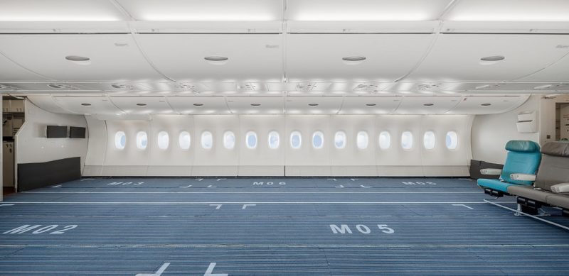
<path fill-rule="evenodd" d="M 511 140 L 506 143 L 506 150 L 508 150 L 508 155 L 506 156 L 506 162 L 504 162 L 504 168 L 500 172 L 499 180 L 481 178 L 477 182 L 478 186 L 484 188 L 486 194 L 494 197 L 502 197 L 504 194 L 507 194 L 508 187 L 511 185 L 533 184 L 531 177 L 522 177 L 520 180 L 520 177 L 516 177 L 516 175 L 533 175 L 535 179 L 539 162 L 541 161 L 539 145 L 533 141 Z M 484 171 L 481 170 L 483 175 L 485 174 Z"/>

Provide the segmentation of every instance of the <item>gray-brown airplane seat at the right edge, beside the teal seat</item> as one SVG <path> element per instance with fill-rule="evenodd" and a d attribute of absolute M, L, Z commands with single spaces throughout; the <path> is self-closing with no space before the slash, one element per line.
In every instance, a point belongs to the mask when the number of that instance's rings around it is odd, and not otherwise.
<path fill-rule="evenodd" d="M 541 148 L 543 157 L 532 186 L 510 186 L 509 194 L 518 196 L 522 211 L 537 214 L 542 205 L 563 208 L 569 214 L 569 143 L 550 142 Z"/>

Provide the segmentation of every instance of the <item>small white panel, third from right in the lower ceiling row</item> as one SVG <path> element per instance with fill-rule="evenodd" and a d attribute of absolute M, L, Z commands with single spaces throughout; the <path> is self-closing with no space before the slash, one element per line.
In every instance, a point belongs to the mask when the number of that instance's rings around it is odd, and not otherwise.
<path fill-rule="evenodd" d="M 401 104 L 401 97 L 344 98 L 339 114 L 390 114 Z"/>

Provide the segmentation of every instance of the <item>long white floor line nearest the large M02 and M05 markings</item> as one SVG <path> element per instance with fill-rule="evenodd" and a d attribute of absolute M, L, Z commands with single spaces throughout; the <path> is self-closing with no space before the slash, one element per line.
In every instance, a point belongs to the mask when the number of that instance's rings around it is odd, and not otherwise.
<path fill-rule="evenodd" d="M 16 204 L 486 204 L 486 202 L 12 202 Z M 500 202 L 516 203 L 516 202 Z"/>

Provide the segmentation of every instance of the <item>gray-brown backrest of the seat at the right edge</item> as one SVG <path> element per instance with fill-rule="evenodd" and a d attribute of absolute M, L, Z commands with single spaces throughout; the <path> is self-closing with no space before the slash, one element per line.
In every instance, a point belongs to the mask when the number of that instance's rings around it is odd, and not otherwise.
<path fill-rule="evenodd" d="M 551 191 L 552 185 L 569 182 L 569 143 L 546 143 L 541 153 L 543 157 L 534 187 Z"/>

